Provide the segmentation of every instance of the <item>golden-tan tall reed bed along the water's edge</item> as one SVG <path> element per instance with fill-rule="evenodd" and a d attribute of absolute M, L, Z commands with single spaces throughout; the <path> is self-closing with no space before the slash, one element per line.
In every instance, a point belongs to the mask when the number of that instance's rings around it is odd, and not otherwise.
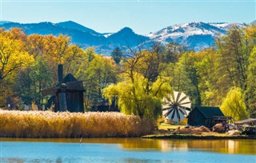
<path fill-rule="evenodd" d="M 54 113 L 0 109 L 0 137 L 139 137 L 153 122 L 123 113 Z"/>

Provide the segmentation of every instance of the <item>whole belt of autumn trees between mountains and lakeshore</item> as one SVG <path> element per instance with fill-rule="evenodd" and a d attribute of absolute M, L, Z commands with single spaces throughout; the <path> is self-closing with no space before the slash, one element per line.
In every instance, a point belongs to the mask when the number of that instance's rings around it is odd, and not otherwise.
<path fill-rule="evenodd" d="M 122 112 L 161 115 L 166 93 L 186 93 L 192 106 L 220 106 L 234 120 L 256 117 L 256 26 L 232 26 L 215 45 L 195 52 L 170 42 L 150 49 L 115 48 L 112 57 L 83 50 L 69 37 L 0 29 L 0 107 L 46 104 L 41 90 L 58 82 L 57 66 L 86 88 L 85 108 L 116 101 Z"/>

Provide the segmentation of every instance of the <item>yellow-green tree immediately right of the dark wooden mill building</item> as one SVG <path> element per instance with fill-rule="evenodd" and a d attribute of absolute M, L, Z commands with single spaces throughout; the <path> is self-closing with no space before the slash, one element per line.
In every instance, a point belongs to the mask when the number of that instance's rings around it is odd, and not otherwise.
<path fill-rule="evenodd" d="M 94 59 L 91 62 L 88 60 L 78 71 L 78 78 L 84 81 L 86 87 L 86 109 L 100 104 L 103 101 L 102 89 L 117 81 L 117 66 L 112 59 L 94 54 Z"/>

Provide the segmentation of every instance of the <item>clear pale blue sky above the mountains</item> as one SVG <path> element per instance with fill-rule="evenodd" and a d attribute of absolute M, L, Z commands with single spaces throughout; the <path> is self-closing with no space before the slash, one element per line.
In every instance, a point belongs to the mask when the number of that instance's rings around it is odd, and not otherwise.
<path fill-rule="evenodd" d="M 183 22 L 252 22 L 256 0 L 0 0 L 2 20 L 72 20 L 100 33 L 129 26 L 149 34 Z"/>

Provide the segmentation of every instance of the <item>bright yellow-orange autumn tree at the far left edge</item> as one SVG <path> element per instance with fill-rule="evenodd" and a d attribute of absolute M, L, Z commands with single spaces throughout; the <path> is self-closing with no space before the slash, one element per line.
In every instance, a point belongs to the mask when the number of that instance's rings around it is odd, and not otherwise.
<path fill-rule="evenodd" d="M 0 30 L 0 105 L 6 105 L 6 98 L 14 94 L 13 85 L 17 72 L 34 61 L 24 49 L 24 34 L 21 30 Z"/>

